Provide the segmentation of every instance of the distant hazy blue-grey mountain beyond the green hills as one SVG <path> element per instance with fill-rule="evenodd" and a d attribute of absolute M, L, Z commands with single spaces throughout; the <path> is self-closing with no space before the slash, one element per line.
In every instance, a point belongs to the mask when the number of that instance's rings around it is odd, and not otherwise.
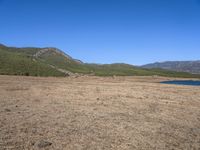
<path fill-rule="evenodd" d="M 200 74 L 200 61 L 166 61 L 142 66 L 143 68 L 161 68 L 166 70 Z"/>

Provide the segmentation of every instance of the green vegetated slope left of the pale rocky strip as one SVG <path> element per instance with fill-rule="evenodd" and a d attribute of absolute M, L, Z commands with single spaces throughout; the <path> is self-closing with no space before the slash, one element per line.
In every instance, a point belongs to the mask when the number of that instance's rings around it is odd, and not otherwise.
<path fill-rule="evenodd" d="M 31 53 L 37 49 L 28 50 L 0 46 L 0 74 L 31 75 L 31 76 L 63 76 L 64 73 L 52 67 L 35 61 Z"/>

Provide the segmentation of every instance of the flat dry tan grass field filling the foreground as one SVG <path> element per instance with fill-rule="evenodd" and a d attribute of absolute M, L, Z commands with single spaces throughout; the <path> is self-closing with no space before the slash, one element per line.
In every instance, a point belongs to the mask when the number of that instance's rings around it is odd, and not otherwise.
<path fill-rule="evenodd" d="M 0 76 L 0 150 L 200 149 L 200 87 Z"/>

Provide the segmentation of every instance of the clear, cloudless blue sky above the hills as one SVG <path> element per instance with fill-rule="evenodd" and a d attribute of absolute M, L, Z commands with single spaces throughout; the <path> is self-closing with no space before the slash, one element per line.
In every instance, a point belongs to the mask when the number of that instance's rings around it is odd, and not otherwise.
<path fill-rule="evenodd" d="M 200 59 L 200 0 L 0 0 L 0 43 L 84 62 Z"/>

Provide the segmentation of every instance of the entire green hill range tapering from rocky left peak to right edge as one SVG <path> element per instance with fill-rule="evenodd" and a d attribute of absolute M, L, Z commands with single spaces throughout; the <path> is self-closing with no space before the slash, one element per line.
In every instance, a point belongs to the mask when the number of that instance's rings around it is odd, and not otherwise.
<path fill-rule="evenodd" d="M 0 74 L 26 76 L 68 76 L 90 74 L 98 76 L 146 76 L 198 77 L 184 72 L 163 69 L 146 69 L 124 63 L 88 64 L 74 59 L 53 48 L 16 48 L 0 44 Z"/>

